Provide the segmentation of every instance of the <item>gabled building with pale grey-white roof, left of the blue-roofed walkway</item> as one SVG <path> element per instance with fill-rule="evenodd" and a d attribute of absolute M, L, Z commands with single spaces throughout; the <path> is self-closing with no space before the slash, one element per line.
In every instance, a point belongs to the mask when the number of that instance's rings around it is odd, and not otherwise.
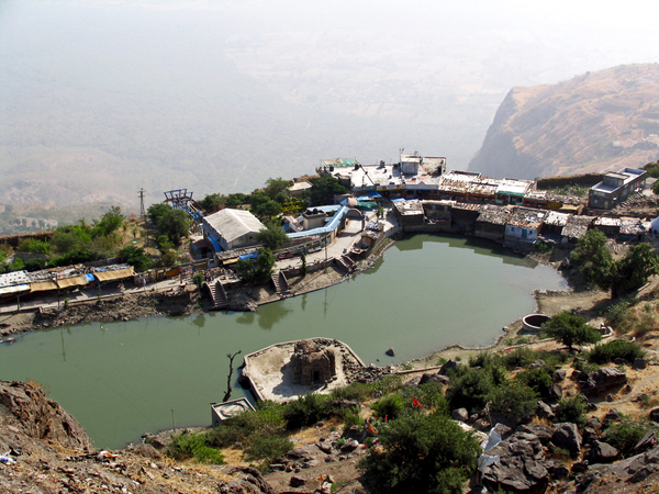
<path fill-rule="evenodd" d="M 202 223 L 203 236 L 216 252 L 233 250 L 256 244 L 256 234 L 266 228 L 249 211 L 224 209 Z"/>

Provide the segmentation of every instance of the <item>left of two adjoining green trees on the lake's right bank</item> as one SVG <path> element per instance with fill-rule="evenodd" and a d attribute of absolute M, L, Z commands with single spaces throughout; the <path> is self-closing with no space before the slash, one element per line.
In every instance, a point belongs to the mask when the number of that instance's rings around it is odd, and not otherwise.
<path fill-rule="evenodd" d="M 570 256 L 579 271 L 589 283 L 601 290 L 608 290 L 613 284 L 616 266 L 611 250 L 606 247 L 606 236 L 599 229 L 589 229 L 579 239 L 577 248 Z"/>

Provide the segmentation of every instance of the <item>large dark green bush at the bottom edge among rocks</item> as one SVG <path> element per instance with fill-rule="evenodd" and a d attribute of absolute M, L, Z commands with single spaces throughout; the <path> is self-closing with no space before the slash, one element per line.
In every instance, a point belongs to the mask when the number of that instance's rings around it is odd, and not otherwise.
<path fill-rule="evenodd" d="M 359 462 L 383 492 L 459 494 L 476 470 L 478 440 L 443 415 L 412 414 L 380 431 Z"/>

